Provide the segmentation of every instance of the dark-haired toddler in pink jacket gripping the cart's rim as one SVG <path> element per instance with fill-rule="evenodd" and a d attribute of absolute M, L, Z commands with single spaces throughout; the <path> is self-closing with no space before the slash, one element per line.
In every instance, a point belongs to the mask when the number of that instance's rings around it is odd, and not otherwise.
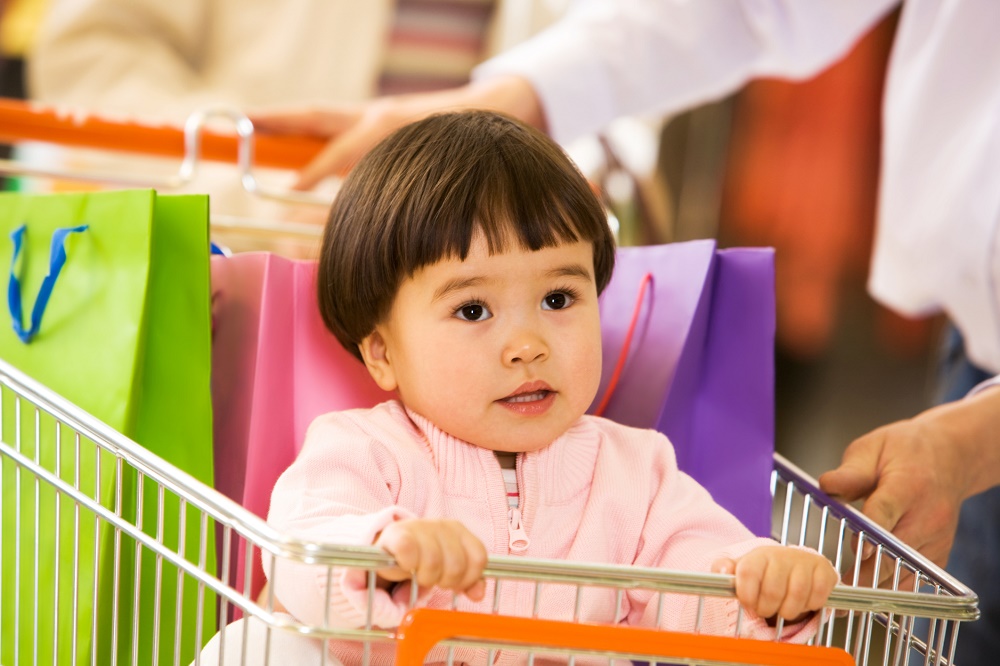
<path fill-rule="evenodd" d="M 670 442 L 586 411 L 601 377 L 598 295 L 615 243 L 584 177 L 542 133 L 489 112 L 402 128 L 346 179 L 319 262 L 337 339 L 397 400 L 316 419 L 278 480 L 269 522 L 375 545 L 363 571 L 278 559 L 279 606 L 321 626 L 393 627 L 419 603 L 655 626 L 657 601 L 483 579 L 488 555 L 734 573 L 741 635 L 804 641 L 837 574 L 820 554 L 755 538 L 677 469 Z M 271 563 L 265 558 L 265 572 Z M 527 585 L 527 588 L 525 587 Z M 560 587 L 560 586 L 555 586 Z M 371 608 L 369 609 L 369 603 Z M 668 595 L 659 624 L 733 635 L 736 601 Z M 377 646 L 376 646 L 377 647 Z M 356 661 L 350 647 L 331 648 Z M 375 648 L 373 648 L 375 649 Z M 461 661 L 461 659 L 459 659 Z"/>

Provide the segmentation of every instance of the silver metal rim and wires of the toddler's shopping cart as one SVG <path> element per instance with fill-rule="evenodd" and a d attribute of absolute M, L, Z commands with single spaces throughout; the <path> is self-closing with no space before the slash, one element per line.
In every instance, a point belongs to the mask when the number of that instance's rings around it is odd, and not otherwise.
<path fill-rule="evenodd" d="M 93 447 L 95 456 L 109 455 L 113 458 L 113 473 L 122 474 L 122 469 L 133 470 L 138 475 L 140 485 L 152 483 L 159 489 L 161 497 L 171 495 L 177 498 L 182 507 L 192 512 L 200 521 L 201 533 L 216 529 L 221 533 L 222 552 L 233 552 L 232 548 L 244 549 L 247 561 L 259 557 L 262 551 L 267 551 L 272 562 L 286 558 L 302 563 L 332 567 L 358 567 L 374 572 L 378 568 L 392 563 L 385 553 L 374 548 L 344 547 L 303 541 L 281 534 L 270 527 L 260 517 L 250 513 L 236 502 L 221 495 L 217 491 L 195 480 L 188 474 L 163 461 L 159 457 L 124 437 L 120 433 L 101 423 L 90 414 L 64 400 L 45 386 L 40 385 L 23 373 L 0 361 L 0 396 L 4 398 L 4 408 L 0 412 L 0 426 L 5 419 L 17 420 L 15 432 L 20 433 L 21 420 L 33 419 L 34 432 L 37 436 L 46 421 L 54 424 L 60 430 L 69 428 L 74 434 L 77 462 L 81 456 L 81 446 L 84 449 Z M 12 401 L 12 402 L 11 402 Z M 13 405 L 13 409 L 8 408 Z M 0 430 L 0 432 L 5 432 Z M 379 629 L 372 626 L 370 617 L 367 626 L 360 629 L 333 629 L 329 627 L 308 626 L 288 619 L 274 611 L 275 600 L 271 594 L 266 598 L 255 600 L 250 596 L 250 569 L 247 568 L 243 580 L 235 580 L 232 570 L 233 562 L 229 557 L 223 557 L 219 571 L 210 571 L 205 566 L 204 548 L 201 553 L 191 554 L 183 548 L 170 548 L 164 544 L 158 534 L 150 533 L 147 526 L 137 526 L 119 515 L 114 504 L 101 497 L 93 497 L 82 490 L 79 474 L 76 478 L 65 471 L 66 461 L 60 462 L 58 453 L 54 467 L 40 462 L 39 446 L 31 446 L 22 442 L 20 434 L 15 441 L 0 442 L 0 465 L 14 467 L 18 483 L 18 493 L 22 484 L 33 484 L 36 504 L 40 492 L 55 493 L 55 496 L 65 498 L 74 505 L 74 512 L 87 512 L 95 521 L 103 521 L 112 526 L 116 539 L 120 536 L 126 546 L 135 549 L 146 549 L 155 553 L 160 559 L 172 567 L 176 567 L 178 577 L 186 577 L 197 581 L 199 594 L 214 594 L 219 600 L 220 617 L 230 618 L 236 615 L 253 617 L 267 626 L 268 637 L 271 631 L 290 631 L 320 639 L 362 641 L 366 646 L 376 642 L 397 641 L 401 635 L 397 631 Z M 83 442 L 83 444 L 81 444 Z M 89 449 L 88 449 L 89 450 Z M 30 451 L 30 452 L 29 452 Z M 82 455 L 87 455 L 84 453 Z M 42 490 L 46 488 L 46 490 Z M 772 495 L 775 507 L 780 510 L 781 517 L 775 522 L 774 536 L 782 543 L 816 545 L 834 561 L 838 570 L 849 572 L 851 553 L 861 549 L 866 544 L 875 551 L 876 570 L 872 579 L 877 581 L 881 573 L 890 571 L 891 585 L 894 589 L 880 589 L 875 582 L 867 582 L 860 569 L 853 571 L 853 580 L 848 585 L 840 585 L 830 597 L 829 608 L 824 611 L 824 625 L 816 639 L 815 645 L 833 646 L 835 634 L 845 631 L 843 647 L 847 649 L 858 663 L 868 663 L 872 652 L 872 642 L 878 642 L 878 626 L 883 629 L 884 650 L 882 663 L 900 664 L 913 654 L 924 657 L 925 664 L 950 664 L 954 659 L 957 643 L 958 627 L 961 622 L 978 618 L 978 599 L 976 595 L 955 580 L 942 569 L 924 558 L 922 555 L 901 543 L 891 534 L 869 521 L 855 508 L 841 504 L 823 493 L 816 482 L 802 470 L 775 455 L 774 472 L 772 474 Z M 3 497 L 0 496 L 0 502 Z M 58 518 L 57 502 L 57 520 Z M 0 504 L 2 511 L 2 504 Z M 185 515 L 187 515 L 185 513 Z M 38 513 L 34 513 L 38 520 Z M 65 519 L 65 516 L 64 516 Z M 38 526 L 35 526 L 37 532 Z M 14 533 L 21 533 L 20 527 L 15 527 Z M 851 538 L 856 543 L 851 544 Z M 23 545 L 23 544 L 19 544 Z M 15 562 L 3 562 L 5 550 L 9 545 L 0 543 L 0 567 L 19 567 L 19 555 L 15 554 Z M 57 549 L 59 548 L 57 542 Z M 181 552 L 178 552 L 180 550 Z M 17 553 L 18 551 L 15 551 Z M 115 557 L 117 558 L 116 551 Z M 883 565 L 882 563 L 886 563 Z M 116 559 L 116 567 L 117 567 Z M 891 569 L 888 567 L 891 566 Z M 272 564 L 273 567 L 273 564 Z M 27 568 L 27 567 L 25 567 Z M 881 571 L 879 571 L 881 569 Z M 25 608 L 35 609 L 34 618 L 24 618 L 24 608 L 21 601 L 15 600 L 14 617 L 0 617 L 0 626 L 13 623 L 15 630 L 15 653 L 19 649 L 16 642 L 24 632 L 16 627 L 18 622 L 32 620 L 33 650 L 39 654 L 39 641 L 44 640 L 46 618 L 37 617 L 38 571 L 35 575 L 35 603 L 25 602 Z M 117 569 L 116 569 L 117 571 Z M 71 572 L 62 572 L 70 575 Z M 274 573 L 272 568 L 271 573 Z M 617 590 L 618 597 L 627 589 L 636 587 L 648 588 L 661 593 L 685 593 L 704 596 L 733 596 L 733 577 L 717 574 L 694 574 L 683 572 L 668 572 L 654 569 L 638 569 L 608 565 L 588 565 L 569 562 L 553 562 L 530 560 L 525 558 L 494 557 L 489 561 L 486 576 L 497 580 L 518 579 L 532 580 L 540 593 L 541 586 L 546 584 L 572 584 L 577 586 L 601 586 Z M 56 572 L 58 581 L 60 572 Z M 900 588 L 901 582 L 912 579 L 910 591 Z M 370 593 L 374 593 L 374 574 L 370 575 Z M 20 586 L 16 586 L 18 589 Z M 0 597 L 9 591 L 0 589 Z M 17 596 L 17 589 L 15 589 Z M 536 594 L 537 600 L 537 594 Z M 58 602 L 58 600 L 57 600 Z M 536 601 L 537 603 L 537 601 Z M 74 611 L 76 609 L 73 609 Z M 116 609 L 117 612 L 117 609 Z M 128 609 L 124 609 L 128 613 Z M 96 615 L 95 615 L 96 617 Z M 918 638 L 914 633 L 914 621 L 917 617 L 929 618 L 929 629 L 924 638 Z M 58 615 L 55 618 L 58 621 Z M 179 619 L 179 618 L 178 618 Z M 116 615 L 116 621 L 118 621 Z M 130 620 L 139 622 L 138 614 Z M 838 629 L 835 630 L 835 625 Z M 194 631 L 198 632 L 196 641 L 200 645 L 208 637 L 201 635 L 201 623 L 193 623 Z M 780 635 L 781 623 L 777 627 Z M 75 632 L 77 627 L 73 627 Z M 737 633 L 739 630 L 737 629 Z M 31 632 L 29 632 L 31 633 Z M 39 636 L 42 634 L 42 638 Z M 873 638 L 874 637 L 874 638 Z M 490 639 L 493 639 L 492 642 Z M 166 641 L 168 637 L 164 637 Z M 26 639 L 25 639 L 26 640 Z M 60 640 L 58 632 L 54 632 L 54 640 Z M 841 641 L 840 636 L 836 639 Z M 2 642 L 2 638 L 0 638 Z M 180 643 L 174 638 L 175 644 Z M 443 645 L 450 651 L 463 645 L 489 646 L 491 650 L 521 649 L 508 641 L 495 636 L 460 636 L 450 637 Z M 541 647 L 541 646 L 536 646 Z M 132 661 L 139 663 L 137 647 L 131 646 Z M 891 653 L 891 654 L 890 654 Z M 575 659 L 577 655 L 593 656 L 592 650 L 571 652 Z M 606 653 L 599 653 L 606 656 Z M 622 656 L 622 655 L 619 655 Z M 625 656 L 628 656 L 625 653 Z M 631 655 L 638 657 L 639 655 Z M 174 657 L 174 663 L 179 656 Z M 267 657 L 265 656 L 265 661 Z M 35 663 L 37 663 L 37 658 Z M 185 662 L 186 663 L 186 662 Z M 195 663 L 198 663 L 197 656 Z M 272 662 L 273 663 L 273 662 Z M 680 662 L 676 659 L 672 663 Z M 703 663 L 701 661 L 697 663 Z M 704 662 L 709 663 L 709 662 Z M 736 663 L 712 661 L 710 663 Z M 755 662 L 772 663 L 772 662 Z M 779 663 L 779 662 L 773 662 Z M 782 662 L 783 663 L 783 662 Z"/>

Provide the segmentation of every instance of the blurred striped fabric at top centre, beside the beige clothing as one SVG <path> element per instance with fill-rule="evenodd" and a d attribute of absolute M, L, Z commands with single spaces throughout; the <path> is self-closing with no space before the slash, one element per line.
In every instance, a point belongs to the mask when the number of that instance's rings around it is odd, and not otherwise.
<path fill-rule="evenodd" d="M 396 0 L 378 94 L 453 88 L 483 59 L 496 0 Z"/>

